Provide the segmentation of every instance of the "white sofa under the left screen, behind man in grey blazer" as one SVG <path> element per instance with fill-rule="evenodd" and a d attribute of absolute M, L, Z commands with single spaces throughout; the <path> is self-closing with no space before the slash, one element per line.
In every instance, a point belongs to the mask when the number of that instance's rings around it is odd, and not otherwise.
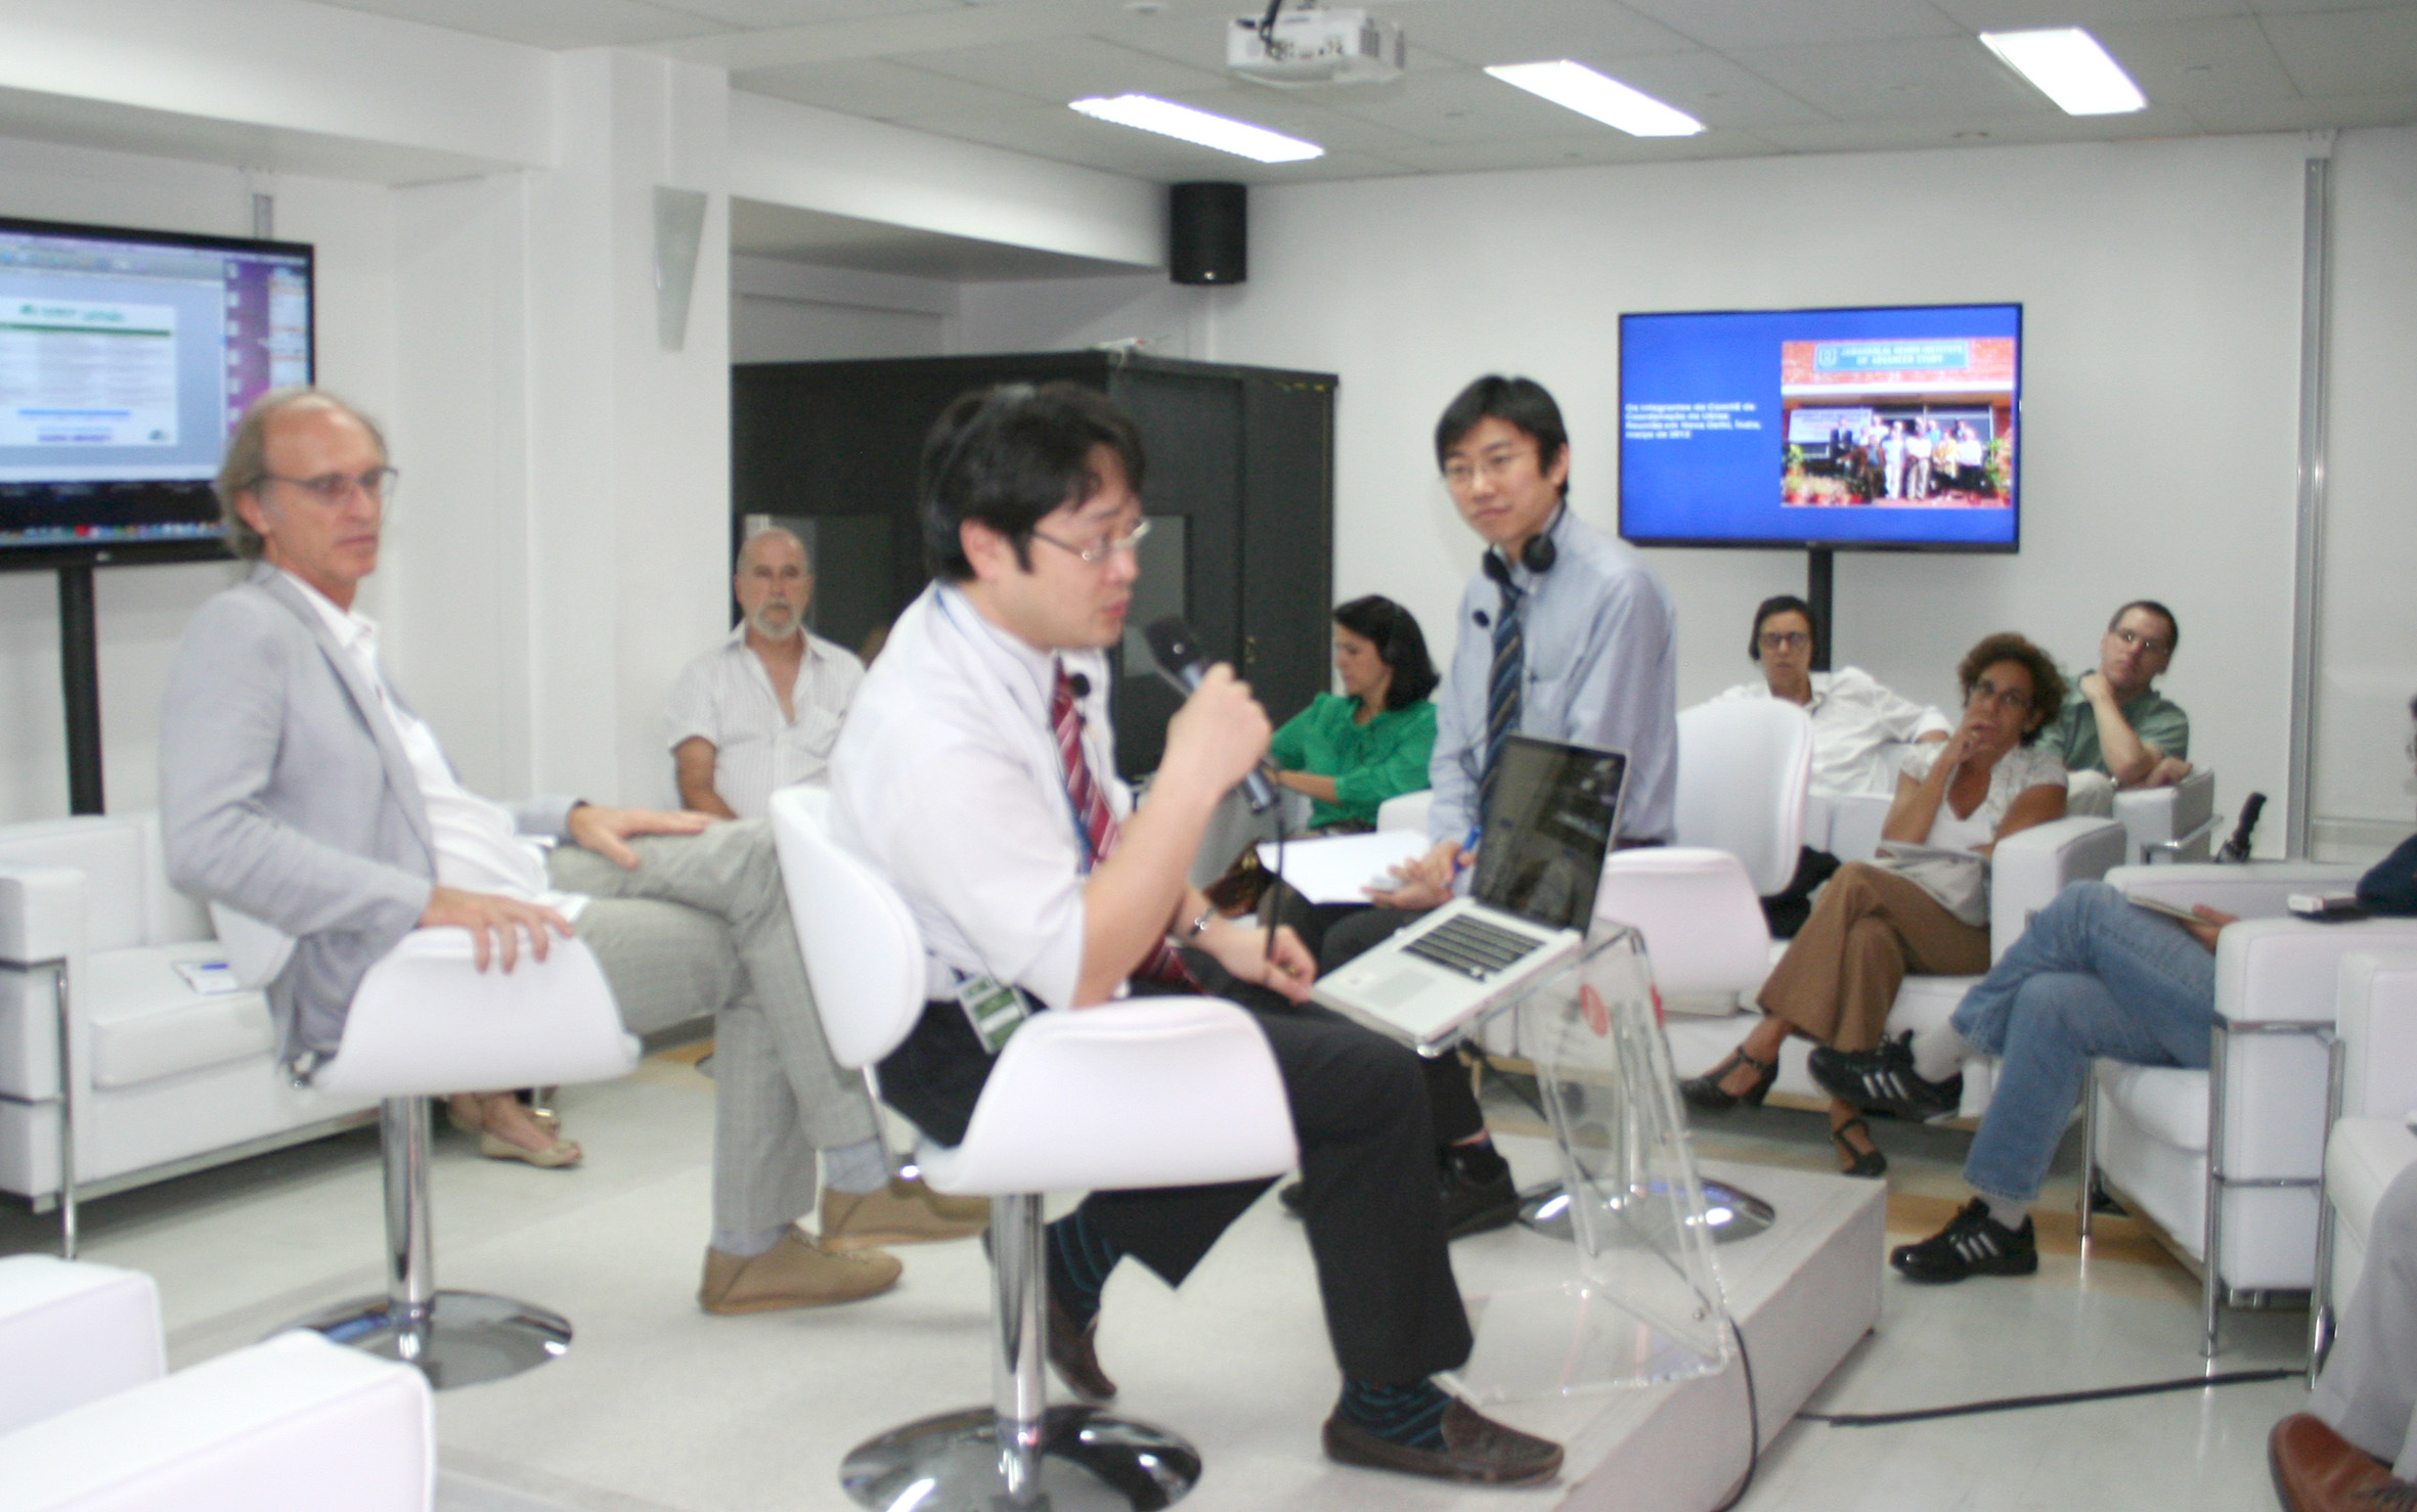
<path fill-rule="evenodd" d="M 0 828 L 0 1191 L 60 1193 L 58 990 L 75 1034 L 75 1181 L 111 1191 L 365 1123 L 375 1101 L 295 1087 L 259 993 L 205 995 L 208 913 L 167 884 L 152 814 Z"/>

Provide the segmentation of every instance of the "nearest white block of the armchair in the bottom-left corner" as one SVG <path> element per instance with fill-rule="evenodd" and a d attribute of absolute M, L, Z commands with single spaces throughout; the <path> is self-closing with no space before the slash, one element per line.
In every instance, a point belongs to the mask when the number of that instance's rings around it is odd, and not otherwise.
<path fill-rule="evenodd" d="M 428 1379 L 280 1333 L 0 1437 L 0 1512 L 428 1512 Z"/>

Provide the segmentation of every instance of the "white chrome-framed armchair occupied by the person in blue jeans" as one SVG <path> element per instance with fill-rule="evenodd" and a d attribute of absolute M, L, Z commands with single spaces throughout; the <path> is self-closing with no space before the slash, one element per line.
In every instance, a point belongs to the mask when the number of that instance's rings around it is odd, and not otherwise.
<path fill-rule="evenodd" d="M 2357 882 L 2354 867 L 2318 862 L 2117 867 L 2108 882 L 2243 920 L 2216 947 L 2209 1068 L 2100 1060 L 2083 1104 L 2083 1232 L 2091 1176 L 2156 1222 L 2199 1268 L 2212 1355 L 2228 1302 L 2315 1283 L 2340 961 L 2352 949 L 2417 947 L 2417 920 L 2284 918 L 2289 894 Z"/>

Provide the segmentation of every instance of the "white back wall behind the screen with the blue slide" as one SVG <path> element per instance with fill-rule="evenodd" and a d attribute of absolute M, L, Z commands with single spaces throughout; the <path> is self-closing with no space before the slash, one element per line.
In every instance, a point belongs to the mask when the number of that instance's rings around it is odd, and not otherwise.
<path fill-rule="evenodd" d="M 1958 655 L 1989 630 L 2021 628 L 2086 667 L 2115 604 L 2166 599 L 2183 621 L 2168 691 L 2192 713 L 2192 756 L 2221 773 L 2221 802 L 2274 797 L 2274 848 L 2308 150 L 2267 135 L 1262 188 L 1247 285 L 969 285 L 962 350 L 1167 333 L 1194 357 L 1341 374 L 1334 589 L 1395 594 L 1441 626 L 1474 539 L 1436 481 L 1431 428 L 1470 377 L 1554 389 L 1571 500 L 1612 527 L 1619 312 L 2021 300 L 2021 556 L 1839 556 L 1839 657 L 1953 700 Z M 2405 162 L 2400 150 L 2395 171 Z M 1934 213 L 1883 225 L 1885 184 L 1929 186 L 1897 203 Z M 2342 328 L 2405 309 L 2407 273 L 2376 283 L 2402 304 L 2361 287 Z M 2405 362 L 2405 314 L 2386 328 Z M 1653 563 L 1677 601 L 1689 703 L 1750 674 L 1760 597 L 1803 592 L 1798 553 Z"/>

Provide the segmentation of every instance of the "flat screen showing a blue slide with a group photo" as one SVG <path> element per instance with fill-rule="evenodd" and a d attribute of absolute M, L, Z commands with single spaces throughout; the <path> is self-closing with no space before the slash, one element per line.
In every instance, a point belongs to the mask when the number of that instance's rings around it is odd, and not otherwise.
<path fill-rule="evenodd" d="M 2016 551 L 2023 307 L 1619 316 L 1639 546 Z"/>

